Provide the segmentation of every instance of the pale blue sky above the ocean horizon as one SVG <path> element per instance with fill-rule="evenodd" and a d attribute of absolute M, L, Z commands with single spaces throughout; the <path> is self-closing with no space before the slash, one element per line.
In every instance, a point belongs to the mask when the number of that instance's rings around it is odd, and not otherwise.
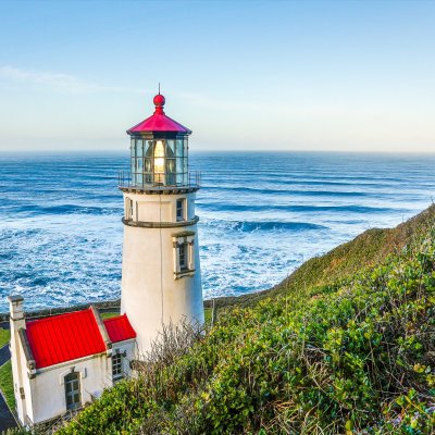
<path fill-rule="evenodd" d="M 0 1 L 0 151 L 435 152 L 435 1 Z"/>

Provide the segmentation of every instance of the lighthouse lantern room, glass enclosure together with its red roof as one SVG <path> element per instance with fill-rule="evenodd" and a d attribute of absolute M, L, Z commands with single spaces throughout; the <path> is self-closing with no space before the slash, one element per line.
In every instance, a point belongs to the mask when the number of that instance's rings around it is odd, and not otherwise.
<path fill-rule="evenodd" d="M 153 98 L 154 113 L 127 130 L 132 187 L 188 186 L 188 136 L 191 130 L 166 116 L 165 98 Z"/>

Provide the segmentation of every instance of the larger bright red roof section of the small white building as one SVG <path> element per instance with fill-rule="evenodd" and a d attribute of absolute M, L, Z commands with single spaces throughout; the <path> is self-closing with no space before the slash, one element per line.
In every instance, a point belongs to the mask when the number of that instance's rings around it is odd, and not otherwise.
<path fill-rule="evenodd" d="M 91 308 L 26 323 L 36 368 L 105 351 Z"/>

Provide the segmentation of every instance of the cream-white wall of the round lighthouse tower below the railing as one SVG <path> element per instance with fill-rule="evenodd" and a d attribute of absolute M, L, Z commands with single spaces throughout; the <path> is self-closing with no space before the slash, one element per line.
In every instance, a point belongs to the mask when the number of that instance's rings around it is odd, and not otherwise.
<path fill-rule="evenodd" d="M 134 221 L 176 223 L 176 199 L 187 202 L 187 221 L 195 217 L 195 192 L 181 195 L 144 195 L 125 192 L 134 202 Z M 160 197 L 160 198 L 159 198 Z M 161 219 L 160 219 L 161 216 Z M 195 274 L 174 274 L 173 236 L 195 232 Z M 121 312 L 137 334 L 139 356 L 149 350 L 162 323 L 203 323 L 202 286 L 197 225 L 146 228 L 124 225 Z"/>

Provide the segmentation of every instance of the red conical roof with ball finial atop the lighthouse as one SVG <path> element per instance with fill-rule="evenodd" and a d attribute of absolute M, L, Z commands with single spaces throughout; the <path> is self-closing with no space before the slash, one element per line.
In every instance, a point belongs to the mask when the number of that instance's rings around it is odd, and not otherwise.
<path fill-rule="evenodd" d="M 153 103 L 156 105 L 154 113 L 150 117 L 147 117 L 145 121 L 127 129 L 127 133 L 129 135 L 138 133 L 178 133 L 182 135 L 190 135 L 190 129 L 165 115 L 163 111 L 165 101 L 165 98 L 161 94 L 158 94 L 153 98 Z"/>

